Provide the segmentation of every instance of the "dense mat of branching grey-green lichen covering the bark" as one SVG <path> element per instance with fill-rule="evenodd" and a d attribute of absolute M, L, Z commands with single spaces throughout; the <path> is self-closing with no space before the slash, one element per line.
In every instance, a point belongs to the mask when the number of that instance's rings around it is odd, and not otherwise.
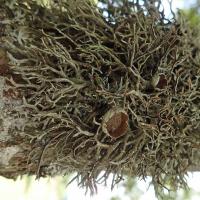
<path fill-rule="evenodd" d="M 91 191 L 110 173 L 112 187 L 124 174 L 184 186 L 200 142 L 200 47 L 181 15 L 165 19 L 160 1 L 1 2 L 30 173 L 77 172 Z"/>

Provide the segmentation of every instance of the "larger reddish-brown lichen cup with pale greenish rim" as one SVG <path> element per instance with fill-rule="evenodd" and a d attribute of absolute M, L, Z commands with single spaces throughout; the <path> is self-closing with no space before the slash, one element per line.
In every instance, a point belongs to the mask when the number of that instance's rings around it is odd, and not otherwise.
<path fill-rule="evenodd" d="M 128 129 L 128 115 L 120 108 L 109 110 L 102 120 L 103 132 L 112 138 L 119 138 L 126 134 Z"/>

